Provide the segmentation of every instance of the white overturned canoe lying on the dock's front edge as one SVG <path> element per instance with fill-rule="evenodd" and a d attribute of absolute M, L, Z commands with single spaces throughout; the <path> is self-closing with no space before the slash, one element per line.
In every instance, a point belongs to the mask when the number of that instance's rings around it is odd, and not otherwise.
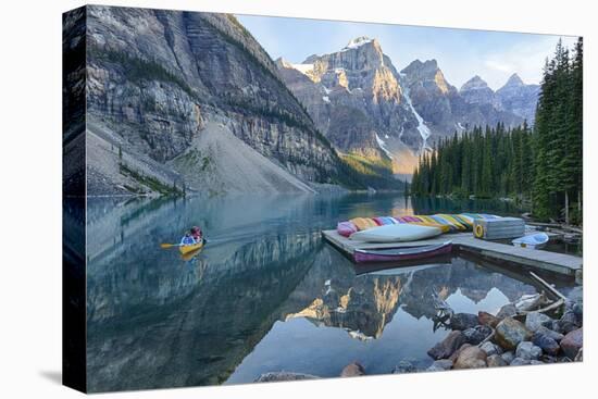
<path fill-rule="evenodd" d="M 389 224 L 353 233 L 349 238 L 364 242 L 401 242 L 426 239 L 439 234 L 443 234 L 443 230 L 438 227 L 415 224 Z"/>

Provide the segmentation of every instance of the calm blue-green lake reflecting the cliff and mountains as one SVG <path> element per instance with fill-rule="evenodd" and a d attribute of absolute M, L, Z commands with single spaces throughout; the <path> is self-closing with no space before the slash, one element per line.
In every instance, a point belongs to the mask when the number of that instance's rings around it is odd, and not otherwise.
<path fill-rule="evenodd" d="M 401 360 L 429 365 L 426 351 L 448 334 L 434 292 L 475 313 L 536 288 L 458 257 L 360 274 L 320 235 L 354 216 L 459 207 L 424 202 L 396 194 L 88 199 L 89 390 L 250 383 L 282 370 L 333 377 L 353 361 L 369 374 Z M 463 207 L 519 212 L 500 201 Z M 191 225 L 209 239 L 199 253 L 160 248 Z"/>

